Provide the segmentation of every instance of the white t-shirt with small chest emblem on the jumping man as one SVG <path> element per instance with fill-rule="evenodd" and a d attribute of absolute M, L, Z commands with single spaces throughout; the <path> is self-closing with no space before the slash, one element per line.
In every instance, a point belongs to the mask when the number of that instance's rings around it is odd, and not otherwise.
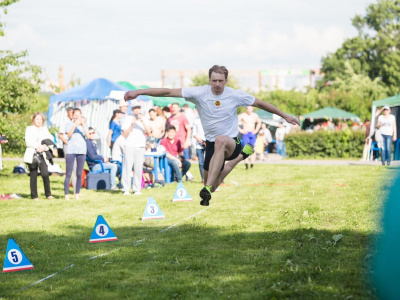
<path fill-rule="evenodd" d="M 230 87 L 225 87 L 221 95 L 214 95 L 210 85 L 183 88 L 182 97 L 196 105 L 206 139 L 210 142 L 219 135 L 237 137 L 237 108 L 253 105 L 255 101 L 254 96 Z"/>

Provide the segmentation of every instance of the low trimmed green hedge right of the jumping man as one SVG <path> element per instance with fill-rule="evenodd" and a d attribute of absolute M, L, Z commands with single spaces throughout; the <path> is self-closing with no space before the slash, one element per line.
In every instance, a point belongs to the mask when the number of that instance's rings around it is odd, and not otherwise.
<path fill-rule="evenodd" d="M 285 137 L 289 157 L 362 157 L 365 132 L 321 130 L 313 133 L 298 132 Z"/>

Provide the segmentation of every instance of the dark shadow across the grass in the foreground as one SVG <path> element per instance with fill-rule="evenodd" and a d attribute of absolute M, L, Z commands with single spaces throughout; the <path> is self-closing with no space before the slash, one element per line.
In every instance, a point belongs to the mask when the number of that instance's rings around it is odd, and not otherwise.
<path fill-rule="evenodd" d="M 374 298 L 365 259 L 373 236 L 312 228 L 235 232 L 196 221 L 160 233 L 167 226 L 155 224 L 113 228 L 109 223 L 119 238 L 115 243 L 89 244 L 93 228 L 81 226 L 66 226 L 63 235 L 2 235 L 2 253 L 14 238 L 35 270 L 3 275 L 0 296 Z M 343 238 L 335 244 L 332 237 L 339 233 Z M 106 255 L 90 259 L 101 254 Z"/>

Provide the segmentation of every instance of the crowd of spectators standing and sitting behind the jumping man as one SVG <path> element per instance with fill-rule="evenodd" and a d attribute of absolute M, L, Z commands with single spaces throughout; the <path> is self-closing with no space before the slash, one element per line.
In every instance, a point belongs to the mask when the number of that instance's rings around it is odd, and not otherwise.
<path fill-rule="evenodd" d="M 70 184 L 73 187 L 74 197 L 79 199 L 85 162 L 91 172 L 104 169 L 110 174 L 111 190 L 121 190 L 124 195 L 132 193 L 140 195 L 143 182 L 154 183 L 152 173 L 158 172 L 151 166 L 153 164 L 151 158 L 145 157 L 147 151 L 165 152 L 166 160 L 172 170 L 172 179 L 178 182 L 193 180 L 190 160 L 197 160 L 203 181 L 205 134 L 197 110 L 191 109 L 188 105 L 181 108 L 178 103 L 173 103 L 170 107 L 155 106 L 146 112 L 136 100 L 131 104 L 131 108 L 132 112 L 128 114 L 128 104 L 122 101 L 119 108 L 112 113 L 107 134 L 107 145 L 111 149 L 110 157 L 100 155 L 96 139 L 99 134 L 95 128 L 88 127 L 81 110 L 66 109 L 65 120 L 59 127 L 58 135 L 64 145 L 62 150 L 66 162 L 65 199 L 69 199 Z M 240 114 L 238 118 L 243 143 L 250 143 L 255 147 L 255 153 L 245 161 L 246 169 L 253 168 L 255 160 L 267 159 L 268 154 L 274 149 L 282 157 L 286 156 L 285 136 L 289 133 L 289 128 L 285 127 L 283 122 L 279 123 L 275 132 L 271 132 L 253 112 L 251 106 L 247 107 L 246 112 Z M 365 128 L 366 149 L 373 138 L 383 149 L 382 164 L 389 165 L 391 157 L 389 145 L 397 138 L 394 116 L 390 114 L 389 107 L 383 107 L 377 111 L 376 118 L 374 130 L 370 130 L 368 119 L 364 124 L 352 124 L 351 129 Z M 46 197 L 53 198 L 48 167 L 50 162 L 52 163 L 51 154 L 56 155 L 53 151 L 57 149 L 52 142 L 52 135 L 43 125 L 43 115 L 36 113 L 32 118 L 32 125 L 28 126 L 25 132 L 27 149 L 24 161 L 30 171 L 32 199 L 38 199 L 39 174 L 43 178 Z M 329 119 L 317 123 L 313 131 L 347 128 L 349 127 L 346 122 L 339 121 L 335 124 Z M 290 131 L 298 130 L 300 130 L 298 126 L 290 128 Z M 5 137 L 0 139 L 0 143 L 6 142 Z M 165 179 L 161 173 L 157 175 L 158 178 Z"/>

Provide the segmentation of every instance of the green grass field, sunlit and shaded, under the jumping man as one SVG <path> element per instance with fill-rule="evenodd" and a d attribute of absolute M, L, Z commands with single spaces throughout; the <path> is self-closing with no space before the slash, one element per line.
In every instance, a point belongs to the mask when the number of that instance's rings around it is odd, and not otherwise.
<path fill-rule="evenodd" d="M 14 238 L 35 269 L 0 275 L 0 297 L 375 298 L 371 244 L 392 169 L 239 165 L 204 210 L 200 181 L 185 185 L 192 202 L 171 202 L 176 184 L 142 196 L 84 189 L 65 201 L 63 177 L 51 177 L 56 199 L 32 201 L 14 165 L 5 162 L 0 192 L 26 198 L 0 202 L 0 262 Z M 167 219 L 141 220 L 149 196 Z M 118 242 L 88 243 L 100 214 Z"/>

